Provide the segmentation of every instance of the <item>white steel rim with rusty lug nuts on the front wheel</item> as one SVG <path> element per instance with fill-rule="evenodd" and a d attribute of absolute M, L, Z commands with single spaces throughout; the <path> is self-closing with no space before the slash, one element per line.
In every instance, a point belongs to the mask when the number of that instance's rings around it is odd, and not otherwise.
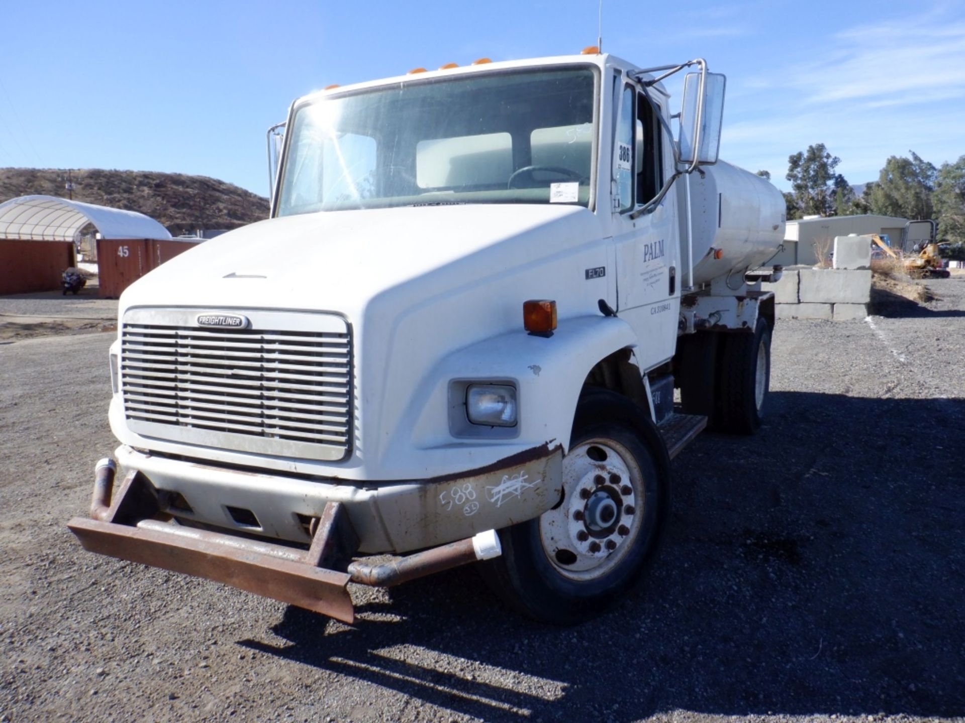
<path fill-rule="evenodd" d="M 539 538 L 563 576 L 592 580 L 617 567 L 640 534 L 644 480 L 630 452 L 590 440 L 563 459 L 564 498 L 539 518 Z"/>

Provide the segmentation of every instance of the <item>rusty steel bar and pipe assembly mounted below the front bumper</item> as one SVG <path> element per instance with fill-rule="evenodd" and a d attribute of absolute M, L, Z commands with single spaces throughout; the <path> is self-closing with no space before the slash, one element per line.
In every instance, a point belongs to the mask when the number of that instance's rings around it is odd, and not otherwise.
<path fill-rule="evenodd" d="M 113 495 L 117 466 L 97 463 L 91 518 L 68 523 L 84 549 L 185 575 L 354 621 L 350 581 L 394 585 L 502 553 L 494 530 L 371 565 L 349 562 L 358 539 L 341 502 L 328 502 L 308 551 L 170 522 L 143 475 L 134 471 Z M 114 497 L 112 501 L 112 496 Z M 346 572 L 340 572 L 345 570 Z"/>

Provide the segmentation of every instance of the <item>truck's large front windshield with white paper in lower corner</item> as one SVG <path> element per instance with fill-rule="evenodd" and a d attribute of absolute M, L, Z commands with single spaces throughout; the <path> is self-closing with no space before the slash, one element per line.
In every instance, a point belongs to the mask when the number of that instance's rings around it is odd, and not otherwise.
<path fill-rule="evenodd" d="M 406 82 L 290 124 L 278 215 L 443 203 L 589 206 L 592 67 Z"/>

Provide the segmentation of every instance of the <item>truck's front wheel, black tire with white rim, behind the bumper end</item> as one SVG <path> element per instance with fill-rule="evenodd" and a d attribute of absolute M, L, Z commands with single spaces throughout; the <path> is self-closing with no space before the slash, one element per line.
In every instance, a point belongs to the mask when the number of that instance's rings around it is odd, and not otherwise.
<path fill-rule="evenodd" d="M 625 397 L 584 397 L 563 460 L 563 499 L 502 530 L 503 555 L 483 568 L 498 594 L 539 621 L 572 625 L 636 582 L 669 506 L 666 450 L 654 447 L 662 442 L 647 425 Z"/>

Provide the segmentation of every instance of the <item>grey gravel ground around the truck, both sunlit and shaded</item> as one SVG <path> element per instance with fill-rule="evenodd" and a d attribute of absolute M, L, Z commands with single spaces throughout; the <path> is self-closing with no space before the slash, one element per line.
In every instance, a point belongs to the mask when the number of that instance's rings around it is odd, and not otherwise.
<path fill-rule="evenodd" d="M 929 283 L 779 324 L 764 428 L 677 458 L 652 574 L 575 629 L 472 569 L 355 589 L 346 627 L 83 552 L 113 335 L 4 345 L 0 721 L 961 719 L 965 277 Z"/>

